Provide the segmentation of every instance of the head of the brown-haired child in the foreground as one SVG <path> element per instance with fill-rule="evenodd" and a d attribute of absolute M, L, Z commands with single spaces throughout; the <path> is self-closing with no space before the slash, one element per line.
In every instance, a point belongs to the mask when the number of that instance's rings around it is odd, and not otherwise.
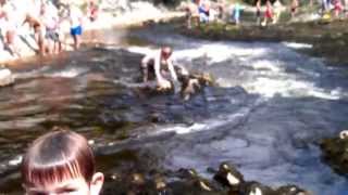
<path fill-rule="evenodd" d="M 28 148 L 22 164 L 27 194 L 98 195 L 103 174 L 96 173 L 95 157 L 87 140 L 73 132 L 47 133 Z"/>

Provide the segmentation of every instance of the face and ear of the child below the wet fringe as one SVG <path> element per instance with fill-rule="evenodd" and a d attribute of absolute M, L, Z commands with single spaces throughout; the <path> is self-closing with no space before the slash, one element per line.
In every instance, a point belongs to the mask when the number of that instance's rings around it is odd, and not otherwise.
<path fill-rule="evenodd" d="M 103 183 L 103 176 L 97 176 L 99 177 L 97 178 L 96 174 L 90 183 L 87 183 L 83 177 L 79 177 L 46 185 L 33 184 L 25 186 L 25 191 L 27 195 L 99 195 Z"/>

